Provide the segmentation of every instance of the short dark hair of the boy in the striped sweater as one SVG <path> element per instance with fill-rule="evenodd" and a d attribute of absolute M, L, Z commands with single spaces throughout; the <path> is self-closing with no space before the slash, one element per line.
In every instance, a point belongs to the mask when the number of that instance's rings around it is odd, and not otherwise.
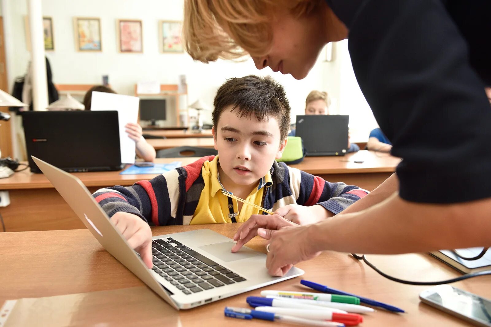
<path fill-rule="evenodd" d="M 288 136 L 290 128 L 290 104 L 285 90 L 271 76 L 234 77 L 225 81 L 217 90 L 213 103 L 213 126 L 218 128 L 218 119 L 223 110 L 233 106 L 237 116 L 242 118 L 254 114 L 259 121 L 273 116 L 278 120 L 281 140 Z"/>

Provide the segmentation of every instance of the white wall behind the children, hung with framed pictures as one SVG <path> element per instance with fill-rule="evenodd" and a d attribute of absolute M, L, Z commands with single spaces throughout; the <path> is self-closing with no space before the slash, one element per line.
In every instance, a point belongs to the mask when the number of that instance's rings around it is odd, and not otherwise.
<path fill-rule="evenodd" d="M 24 16 L 26 0 L 9 1 L 11 30 L 10 40 L 14 50 L 10 62 L 9 83 L 13 77 L 26 73 L 30 54 L 26 47 Z M 43 15 L 53 17 L 55 51 L 47 52 L 53 70 L 53 81 L 60 84 L 100 84 L 102 75 L 109 75 L 109 83 L 122 94 L 133 95 L 138 81 L 154 80 L 162 84 L 178 83 L 178 76 L 185 74 L 188 82 L 188 104 L 200 98 L 212 108 L 214 93 L 226 78 L 248 74 L 272 75 L 286 89 L 292 107 L 292 121 L 303 114 L 305 97 L 313 89 L 325 90 L 331 96 L 334 113 L 350 114 L 350 128 L 362 140 L 368 136 L 365 130 L 373 128 L 367 119 L 371 115 L 361 95 L 346 47 L 341 42 L 335 49 L 335 60 L 325 62 L 320 56 L 307 78 L 302 81 L 290 75 L 274 73 L 266 68 L 258 71 L 251 59 L 245 62 L 218 61 L 210 64 L 194 62 L 188 54 L 161 54 L 159 52 L 158 25 L 160 20 L 182 20 L 183 0 L 41 0 Z M 99 17 L 101 19 L 101 53 L 77 52 L 75 49 L 74 17 Z M 117 51 L 116 19 L 140 19 L 143 21 L 143 53 L 121 54 Z M 351 72 L 350 72 L 351 70 Z M 10 84 L 11 85 L 11 84 Z M 11 86 L 10 86 L 11 88 Z M 170 104 L 172 106 L 172 104 Z M 174 110 L 169 110 L 173 113 Z M 208 118 L 207 118 L 208 116 Z M 205 122 L 210 121 L 205 113 Z M 368 126 L 366 122 L 369 122 Z M 364 127 L 365 126 L 365 127 Z"/>

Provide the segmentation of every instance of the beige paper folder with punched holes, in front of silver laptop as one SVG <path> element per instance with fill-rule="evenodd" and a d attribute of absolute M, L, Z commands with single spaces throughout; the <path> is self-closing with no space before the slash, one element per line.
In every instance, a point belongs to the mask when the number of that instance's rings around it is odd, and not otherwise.
<path fill-rule="evenodd" d="M 0 303 L 1 327 L 142 325 L 181 326 L 177 311 L 147 287 L 23 298 L 7 300 L 3 305 Z"/>

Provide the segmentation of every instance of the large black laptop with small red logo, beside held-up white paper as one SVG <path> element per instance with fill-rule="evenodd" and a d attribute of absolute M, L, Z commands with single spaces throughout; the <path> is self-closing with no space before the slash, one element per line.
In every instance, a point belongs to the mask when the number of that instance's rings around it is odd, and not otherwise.
<path fill-rule="evenodd" d="M 118 112 L 25 111 L 22 113 L 30 170 L 31 156 L 65 171 L 119 170 Z"/>

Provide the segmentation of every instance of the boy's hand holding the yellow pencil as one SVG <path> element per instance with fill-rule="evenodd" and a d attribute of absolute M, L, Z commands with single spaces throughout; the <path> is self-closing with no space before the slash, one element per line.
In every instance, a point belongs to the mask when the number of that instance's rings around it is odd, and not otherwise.
<path fill-rule="evenodd" d="M 309 225 L 322 221 L 334 214 L 326 210 L 321 205 L 313 205 L 310 207 L 301 206 L 300 204 L 289 204 L 278 208 L 275 215 L 279 215 L 285 219 L 291 220 L 299 225 Z"/>

